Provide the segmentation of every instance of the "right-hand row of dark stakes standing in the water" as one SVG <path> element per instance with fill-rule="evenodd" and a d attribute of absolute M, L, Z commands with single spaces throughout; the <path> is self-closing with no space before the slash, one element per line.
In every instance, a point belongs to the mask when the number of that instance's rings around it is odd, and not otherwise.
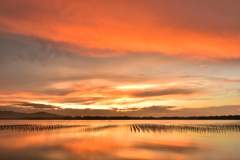
<path fill-rule="evenodd" d="M 195 133 L 226 133 L 226 132 L 240 132 L 240 125 L 149 125 L 138 124 L 130 125 L 131 132 L 195 132 Z"/>

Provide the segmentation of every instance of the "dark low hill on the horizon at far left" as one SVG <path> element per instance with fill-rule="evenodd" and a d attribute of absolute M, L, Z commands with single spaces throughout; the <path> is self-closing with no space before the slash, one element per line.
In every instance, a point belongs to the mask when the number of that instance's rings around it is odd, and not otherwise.
<path fill-rule="evenodd" d="M 46 112 L 18 113 L 13 111 L 0 111 L 0 119 L 58 119 L 63 116 Z"/>

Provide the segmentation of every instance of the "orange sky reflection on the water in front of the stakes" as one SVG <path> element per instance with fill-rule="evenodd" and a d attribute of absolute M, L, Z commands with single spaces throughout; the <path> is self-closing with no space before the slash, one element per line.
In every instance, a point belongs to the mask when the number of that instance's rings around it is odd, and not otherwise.
<path fill-rule="evenodd" d="M 101 124 L 107 125 L 109 122 Z M 240 158 L 237 150 L 240 137 L 238 133 L 232 132 L 134 133 L 130 131 L 129 126 L 123 125 L 99 132 L 79 132 L 77 128 L 31 133 L 2 131 L 0 137 L 0 152 L 3 159 Z"/>

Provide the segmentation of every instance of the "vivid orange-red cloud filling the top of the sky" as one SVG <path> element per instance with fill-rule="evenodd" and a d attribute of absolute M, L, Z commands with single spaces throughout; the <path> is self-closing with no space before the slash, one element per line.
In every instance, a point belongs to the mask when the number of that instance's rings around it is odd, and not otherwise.
<path fill-rule="evenodd" d="M 59 48 L 76 54 L 81 54 L 80 46 L 84 46 L 114 50 L 118 55 L 137 51 L 195 58 L 239 58 L 237 0 L 57 0 L 52 1 L 51 7 L 46 0 L 9 0 L 1 4 L 2 32 L 63 42 L 69 45 Z M 116 52 L 86 54 L 106 55 L 116 56 Z"/>

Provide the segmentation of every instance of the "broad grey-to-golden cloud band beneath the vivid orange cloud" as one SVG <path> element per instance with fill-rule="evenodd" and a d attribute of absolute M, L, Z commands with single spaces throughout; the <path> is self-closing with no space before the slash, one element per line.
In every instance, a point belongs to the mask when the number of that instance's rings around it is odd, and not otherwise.
<path fill-rule="evenodd" d="M 237 104 L 239 65 L 224 62 L 130 52 L 94 57 L 109 49 L 81 47 L 80 55 L 38 36 L 0 34 L 0 99 L 69 103 L 83 108 L 177 105 L 202 107 Z M 125 52 L 124 52 L 125 53 Z M 199 68 L 202 64 L 207 67 Z M 138 86 L 133 89 L 121 89 Z M 142 86 L 157 86 L 141 89 Z M 221 86 L 221 87 L 216 87 Z M 196 102 L 190 102 L 188 100 Z M 205 101 L 211 99 L 211 101 Z M 175 101 L 172 101 L 175 100 Z M 11 103 L 10 103 L 11 104 Z"/>

